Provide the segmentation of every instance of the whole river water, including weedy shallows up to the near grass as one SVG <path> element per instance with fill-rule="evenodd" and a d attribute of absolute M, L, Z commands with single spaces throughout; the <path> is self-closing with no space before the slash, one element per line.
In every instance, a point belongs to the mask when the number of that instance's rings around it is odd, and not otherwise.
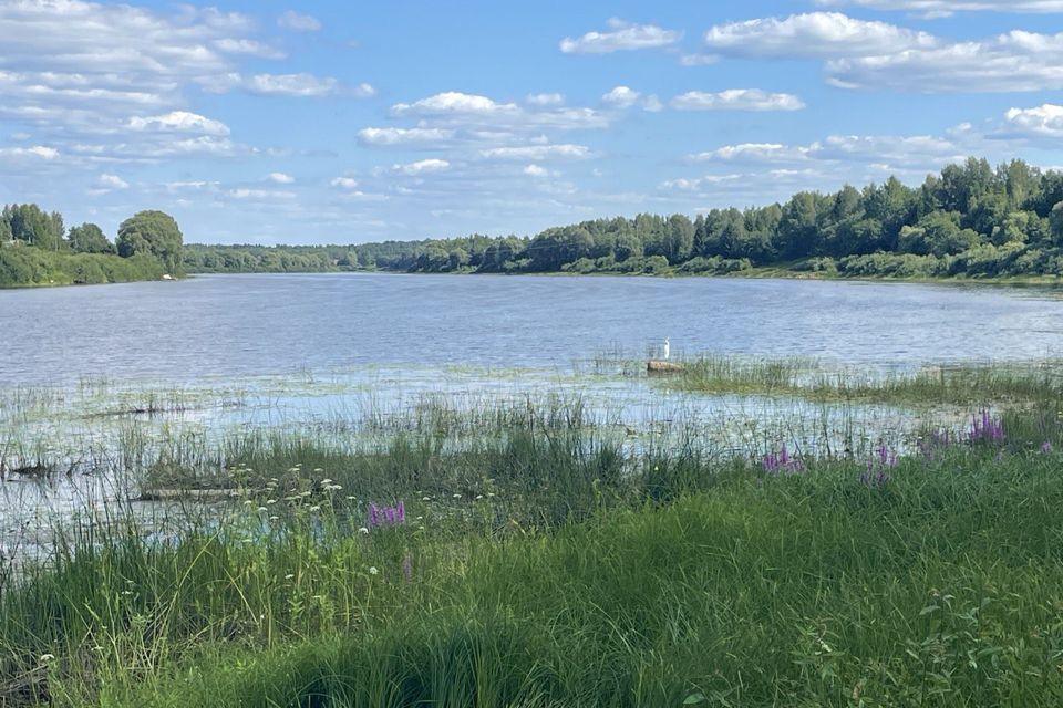
<path fill-rule="evenodd" d="M 899 447 L 916 423 L 901 408 L 680 393 L 613 358 L 657 355 L 668 336 L 680 356 L 894 368 L 1049 358 L 1061 334 L 1063 301 L 1046 289 L 311 274 L 0 291 L 0 459 L 80 465 L 70 479 L 2 485 L 0 554 L 37 555 L 56 523 L 135 493 L 115 452 L 131 438 L 207 449 L 296 430 L 372 445 L 433 399 L 557 396 L 578 397 L 632 451 L 670 428 L 747 455 Z"/>

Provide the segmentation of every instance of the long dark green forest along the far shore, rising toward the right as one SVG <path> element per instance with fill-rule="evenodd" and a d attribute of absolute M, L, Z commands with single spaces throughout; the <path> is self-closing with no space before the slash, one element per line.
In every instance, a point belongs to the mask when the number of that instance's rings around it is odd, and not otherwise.
<path fill-rule="evenodd" d="M 357 246 L 189 246 L 190 272 L 723 274 L 785 269 L 842 277 L 1063 275 L 1063 173 L 970 158 L 919 187 L 896 178 L 691 220 L 641 214 L 534 238 L 468 236 Z"/>

